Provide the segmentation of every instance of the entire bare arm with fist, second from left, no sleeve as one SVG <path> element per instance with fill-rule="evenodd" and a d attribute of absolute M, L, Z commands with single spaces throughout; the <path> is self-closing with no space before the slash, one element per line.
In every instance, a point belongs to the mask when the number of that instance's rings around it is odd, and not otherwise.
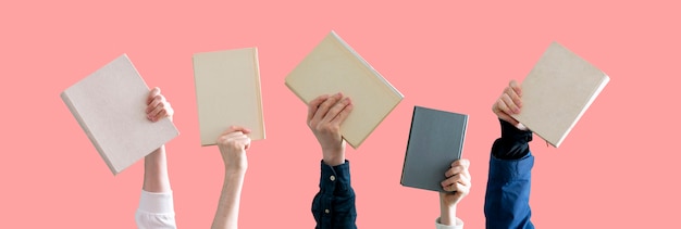
<path fill-rule="evenodd" d="M 249 129 L 232 126 L 216 140 L 225 166 L 225 176 L 212 229 L 234 229 L 238 226 L 242 188 L 248 168 L 246 158 L 246 150 L 250 148 L 248 133 Z"/>

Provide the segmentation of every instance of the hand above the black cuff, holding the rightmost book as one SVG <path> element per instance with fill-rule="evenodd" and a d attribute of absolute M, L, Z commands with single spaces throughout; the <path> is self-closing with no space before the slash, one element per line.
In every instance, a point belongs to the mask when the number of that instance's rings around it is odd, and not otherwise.
<path fill-rule="evenodd" d="M 494 112 L 499 119 L 506 120 L 516 128 L 527 130 L 527 127 L 510 116 L 511 114 L 520 114 L 520 109 L 522 107 L 521 97 L 522 89 L 520 85 L 518 85 L 516 80 L 511 80 L 508 82 L 508 87 L 504 89 L 499 99 L 492 105 L 492 112 Z"/>

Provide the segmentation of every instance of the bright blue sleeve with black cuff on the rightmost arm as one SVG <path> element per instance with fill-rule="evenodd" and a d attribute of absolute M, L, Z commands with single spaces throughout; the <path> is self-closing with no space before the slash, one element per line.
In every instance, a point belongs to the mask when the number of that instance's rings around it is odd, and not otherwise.
<path fill-rule="evenodd" d="M 502 120 L 502 138 L 492 145 L 485 193 L 485 225 L 494 228 L 534 228 L 530 216 L 532 132 Z"/>

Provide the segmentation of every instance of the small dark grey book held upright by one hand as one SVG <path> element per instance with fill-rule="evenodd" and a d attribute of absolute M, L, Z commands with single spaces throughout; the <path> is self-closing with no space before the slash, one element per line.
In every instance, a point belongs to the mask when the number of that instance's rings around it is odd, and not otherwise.
<path fill-rule="evenodd" d="M 400 183 L 445 192 L 439 183 L 461 158 L 467 126 L 468 115 L 414 106 Z"/>

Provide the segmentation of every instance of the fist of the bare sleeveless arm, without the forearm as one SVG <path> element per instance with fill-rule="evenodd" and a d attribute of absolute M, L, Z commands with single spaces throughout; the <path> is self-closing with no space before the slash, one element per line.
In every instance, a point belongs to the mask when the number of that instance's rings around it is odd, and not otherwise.
<path fill-rule="evenodd" d="M 225 171 L 245 173 L 248 168 L 246 150 L 250 148 L 250 138 L 247 136 L 250 129 L 239 126 L 231 126 L 216 140 L 222 154 Z"/>

